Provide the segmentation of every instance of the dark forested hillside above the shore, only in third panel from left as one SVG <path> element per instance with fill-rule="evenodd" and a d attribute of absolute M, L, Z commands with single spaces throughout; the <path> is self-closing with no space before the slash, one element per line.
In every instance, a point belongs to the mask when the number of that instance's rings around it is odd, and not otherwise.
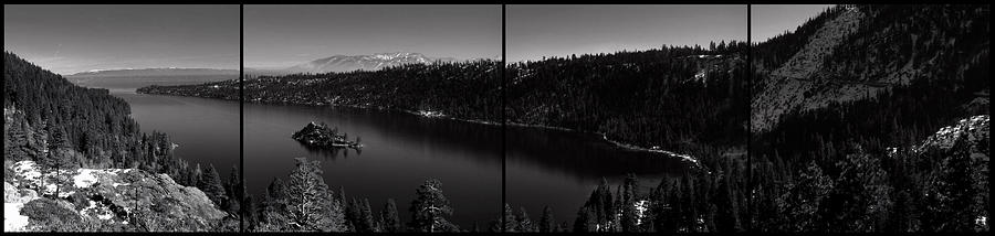
<path fill-rule="evenodd" d="M 598 132 L 643 148 L 745 143 L 743 42 L 511 64 L 509 121 Z"/>

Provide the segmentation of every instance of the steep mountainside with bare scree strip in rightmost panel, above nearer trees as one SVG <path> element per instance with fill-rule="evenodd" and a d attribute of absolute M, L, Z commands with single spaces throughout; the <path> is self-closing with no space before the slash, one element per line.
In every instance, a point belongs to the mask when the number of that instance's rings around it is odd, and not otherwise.
<path fill-rule="evenodd" d="M 803 25 L 814 33 L 757 45 L 752 130 L 914 81 L 968 81 L 965 72 L 983 66 L 988 54 L 986 10 L 971 6 L 839 6 L 817 19 Z M 771 60 L 778 56 L 771 47 L 793 43 L 802 46 L 788 60 Z"/>

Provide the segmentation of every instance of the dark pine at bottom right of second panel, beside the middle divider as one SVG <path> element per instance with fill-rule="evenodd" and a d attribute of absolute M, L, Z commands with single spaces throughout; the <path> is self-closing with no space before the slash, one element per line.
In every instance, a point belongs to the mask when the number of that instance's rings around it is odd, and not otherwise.
<path fill-rule="evenodd" d="M 411 202 L 411 222 L 408 223 L 413 232 L 454 232 L 455 225 L 444 217 L 452 215 L 452 206 L 449 200 L 442 195 L 442 183 L 430 179 L 425 181 L 416 191 L 416 199 Z"/>

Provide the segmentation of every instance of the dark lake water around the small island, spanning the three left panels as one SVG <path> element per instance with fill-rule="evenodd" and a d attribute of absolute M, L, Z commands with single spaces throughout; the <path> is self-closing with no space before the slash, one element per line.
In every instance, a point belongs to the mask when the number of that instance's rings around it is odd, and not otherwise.
<path fill-rule="evenodd" d="M 112 88 L 132 105 L 145 131 L 161 130 L 179 143 L 180 158 L 212 163 L 228 176 L 239 157 L 237 101 L 138 95 Z M 342 108 L 245 104 L 245 180 L 251 194 L 261 194 L 274 179 L 286 179 L 294 158 L 318 160 L 325 182 L 345 187 L 349 197 L 369 199 L 380 211 L 388 197 L 398 203 L 401 219 L 415 190 L 427 179 L 442 182 L 454 208 L 450 221 L 481 229 L 496 218 L 502 203 L 502 160 L 506 152 L 506 200 L 517 212 L 526 207 L 538 221 L 545 205 L 557 222 L 573 225 L 577 211 L 601 178 L 618 184 L 637 173 L 645 186 L 656 186 L 685 163 L 657 153 L 630 151 L 589 133 L 510 126 L 502 150 L 501 126 L 434 119 L 406 112 Z M 310 150 L 291 139 L 307 122 L 338 127 L 349 139 L 360 137 L 362 150 Z"/>

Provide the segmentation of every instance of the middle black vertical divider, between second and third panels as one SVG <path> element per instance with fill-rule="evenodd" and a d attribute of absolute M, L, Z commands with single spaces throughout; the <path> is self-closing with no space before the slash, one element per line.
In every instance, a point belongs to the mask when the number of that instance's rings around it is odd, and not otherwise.
<path fill-rule="evenodd" d="M 501 4 L 501 205 L 498 206 L 501 212 L 501 228 L 504 228 L 507 218 L 504 206 L 507 205 L 507 118 L 505 109 L 507 108 L 507 44 L 505 36 L 507 26 L 505 25 L 506 4 Z"/>

